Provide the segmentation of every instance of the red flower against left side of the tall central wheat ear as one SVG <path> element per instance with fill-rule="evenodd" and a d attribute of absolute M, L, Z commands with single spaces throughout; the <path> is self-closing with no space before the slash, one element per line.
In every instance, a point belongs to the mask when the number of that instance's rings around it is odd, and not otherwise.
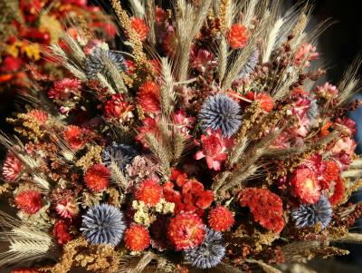
<path fill-rule="evenodd" d="M 148 81 L 139 86 L 138 103 L 146 113 L 160 112 L 159 87 L 157 83 Z"/>

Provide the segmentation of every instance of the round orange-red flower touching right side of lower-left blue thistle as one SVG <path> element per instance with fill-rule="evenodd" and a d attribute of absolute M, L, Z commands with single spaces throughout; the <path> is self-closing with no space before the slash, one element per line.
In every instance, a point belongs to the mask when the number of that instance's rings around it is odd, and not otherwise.
<path fill-rule="evenodd" d="M 142 225 L 132 224 L 125 232 L 126 247 L 132 251 L 147 249 L 150 242 L 148 229 Z"/>

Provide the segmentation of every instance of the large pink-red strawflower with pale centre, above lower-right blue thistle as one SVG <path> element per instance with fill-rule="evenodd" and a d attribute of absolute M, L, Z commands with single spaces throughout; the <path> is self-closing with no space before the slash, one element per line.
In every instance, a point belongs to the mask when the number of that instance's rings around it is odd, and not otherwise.
<path fill-rule="evenodd" d="M 292 194 L 303 203 L 314 204 L 320 197 L 320 186 L 316 173 L 310 168 L 299 168 L 291 177 Z"/>

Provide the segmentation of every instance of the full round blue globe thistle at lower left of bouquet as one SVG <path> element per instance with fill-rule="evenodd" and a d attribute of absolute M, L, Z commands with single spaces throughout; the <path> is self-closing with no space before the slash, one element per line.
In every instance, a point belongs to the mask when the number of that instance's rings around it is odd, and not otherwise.
<path fill-rule="evenodd" d="M 109 204 L 96 205 L 81 218 L 81 231 L 90 243 L 96 245 L 117 246 L 126 229 L 123 213 Z"/>

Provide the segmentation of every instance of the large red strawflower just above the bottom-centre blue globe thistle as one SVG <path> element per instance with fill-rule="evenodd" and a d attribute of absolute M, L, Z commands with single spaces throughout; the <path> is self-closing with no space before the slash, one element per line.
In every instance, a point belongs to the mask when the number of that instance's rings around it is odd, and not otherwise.
<path fill-rule="evenodd" d="M 176 250 L 195 248 L 205 237 L 205 224 L 194 213 L 181 213 L 170 220 L 167 236 Z"/>

